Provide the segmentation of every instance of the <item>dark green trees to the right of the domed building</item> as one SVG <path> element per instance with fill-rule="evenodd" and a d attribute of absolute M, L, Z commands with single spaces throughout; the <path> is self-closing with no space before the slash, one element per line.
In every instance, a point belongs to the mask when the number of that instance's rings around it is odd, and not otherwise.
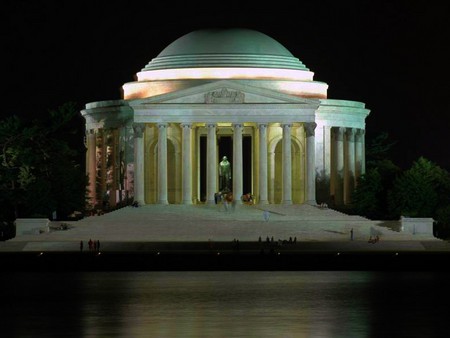
<path fill-rule="evenodd" d="M 442 236 L 450 235 L 450 173 L 424 157 L 402 170 L 389 158 L 394 145 L 387 133 L 369 143 L 367 170 L 358 179 L 348 211 L 372 220 L 433 218 Z"/>

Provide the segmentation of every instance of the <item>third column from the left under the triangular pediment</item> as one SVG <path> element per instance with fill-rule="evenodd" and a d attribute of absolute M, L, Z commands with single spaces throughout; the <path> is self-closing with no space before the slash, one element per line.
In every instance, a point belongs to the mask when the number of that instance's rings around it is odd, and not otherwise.
<path fill-rule="evenodd" d="M 181 129 L 183 131 L 182 144 L 182 185 L 183 185 L 183 204 L 192 204 L 192 165 L 191 165 L 191 137 L 192 124 L 182 123 Z"/>

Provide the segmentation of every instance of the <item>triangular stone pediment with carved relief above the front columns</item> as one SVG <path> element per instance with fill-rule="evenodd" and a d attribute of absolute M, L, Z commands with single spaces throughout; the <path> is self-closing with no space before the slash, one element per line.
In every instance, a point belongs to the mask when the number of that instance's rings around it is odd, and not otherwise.
<path fill-rule="evenodd" d="M 232 80 L 201 84 L 145 99 L 132 100 L 132 105 L 146 104 L 243 104 L 296 103 L 317 104 L 317 100 L 288 95 L 275 90 L 255 87 Z"/>

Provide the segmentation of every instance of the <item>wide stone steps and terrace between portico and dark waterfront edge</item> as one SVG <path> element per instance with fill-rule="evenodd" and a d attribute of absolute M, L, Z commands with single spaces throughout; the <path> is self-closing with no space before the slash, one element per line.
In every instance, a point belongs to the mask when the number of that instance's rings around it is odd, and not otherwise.
<path fill-rule="evenodd" d="M 269 218 L 264 219 L 264 211 Z M 59 225 L 60 222 L 52 222 Z M 267 237 L 278 243 L 296 239 L 298 251 L 446 251 L 446 241 L 431 233 L 400 231 L 399 222 L 371 221 L 338 211 L 303 205 L 223 204 L 131 206 L 84 219 L 65 222 L 59 229 L 18 236 L 0 244 L 0 251 L 78 251 L 83 241 L 99 240 L 102 251 L 148 252 L 160 248 L 184 248 L 189 243 L 257 243 Z M 53 226 L 52 226 L 53 225 Z M 352 236 L 353 230 L 353 236 Z M 379 236 L 375 244 L 370 237 Z M 353 237 L 353 238 L 352 238 Z M 173 243 L 172 246 L 169 245 Z M 292 247 L 291 247 L 292 248 Z"/>

